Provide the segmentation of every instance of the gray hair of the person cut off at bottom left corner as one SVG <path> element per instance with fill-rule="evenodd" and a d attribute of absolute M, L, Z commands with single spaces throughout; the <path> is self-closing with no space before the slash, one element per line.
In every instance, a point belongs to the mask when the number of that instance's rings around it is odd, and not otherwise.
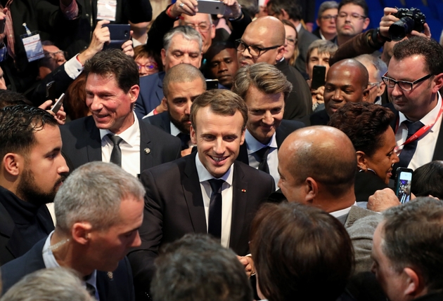
<path fill-rule="evenodd" d="M 75 271 L 56 267 L 39 269 L 15 283 L 0 301 L 94 301 Z"/>

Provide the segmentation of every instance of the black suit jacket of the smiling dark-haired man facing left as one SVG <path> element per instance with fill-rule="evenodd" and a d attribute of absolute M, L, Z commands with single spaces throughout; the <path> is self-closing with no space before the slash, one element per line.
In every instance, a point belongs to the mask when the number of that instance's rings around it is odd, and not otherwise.
<path fill-rule="evenodd" d="M 139 120 L 140 124 L 140 173 L 161 163 L 180 157 L 179 138 L 168 135 L 155 126 Z M 62 153 L 70 171 L 84 163 L 101 161 L 100 131 L 92 116 L 71 121 L 60 126 L 63 141 Z M 147 152 L 146 149 L 150 149 Z"/>

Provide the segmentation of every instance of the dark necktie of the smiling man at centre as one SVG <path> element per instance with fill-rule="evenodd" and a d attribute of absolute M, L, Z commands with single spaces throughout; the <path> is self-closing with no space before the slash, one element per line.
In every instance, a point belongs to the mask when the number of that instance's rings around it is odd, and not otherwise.
<path fill-rule="evenodd" d="M 224 180 L 211 179 L 207 182 L 210 183 L 212 189 L 207 233 L 221 239 L 221 185 Z"/>

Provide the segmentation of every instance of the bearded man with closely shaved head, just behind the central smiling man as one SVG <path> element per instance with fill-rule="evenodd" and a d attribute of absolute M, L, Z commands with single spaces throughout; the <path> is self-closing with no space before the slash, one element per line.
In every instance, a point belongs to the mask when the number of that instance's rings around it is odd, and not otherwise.
<path fill-rule="evenodd" d="M 163 80 L 162 102 L 167 112 L 148 116 L 143 121 L 161 128 L 181 140 L 181 156 L 191 154 L 193 144 L 189 135 L 191 105 L 198 95 L 206 91 L 202 72 L 193 65 L 175 65 L 166 72 Z"/>

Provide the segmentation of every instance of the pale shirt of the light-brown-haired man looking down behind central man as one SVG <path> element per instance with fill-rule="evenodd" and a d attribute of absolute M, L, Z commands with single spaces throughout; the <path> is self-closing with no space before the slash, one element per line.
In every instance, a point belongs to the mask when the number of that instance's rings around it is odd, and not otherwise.
<path fill-rule="evenodd" d="M 263 147 L 271 147 L 268 154 L 268 166 L 269 166 L 269 174 L 274 178 L 274 182 L 276 182 L 276 190 L 278 189 L 277 184 L 280 180 L 280 175 L 278 174 L 278 149 L 277 149 L 277 140 L 276 140 L 276 133 L 272 135 L 271 141 L 267 145 L 262 145 L 261 142 L 259 142 L 257 139 L 254 138 L 254 136 L 249 133 L 248 129 L 246 129 L 245 133 L 245 143 L 246 147 L 248 148 L 248 159 L 249 159 L 249 166 L 253 168 L 257 168 L 260 164 L 260 158 L 257 157 L 257 152 L 259 149 L 262 149 Z"/>

